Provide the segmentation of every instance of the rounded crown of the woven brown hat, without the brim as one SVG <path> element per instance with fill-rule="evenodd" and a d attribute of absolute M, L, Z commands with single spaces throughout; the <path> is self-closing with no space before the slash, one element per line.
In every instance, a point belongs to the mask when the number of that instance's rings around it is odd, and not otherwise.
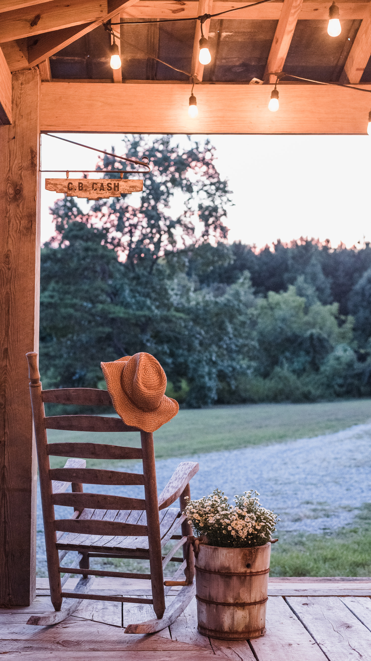
<path fill-rule="evenodd" d="M 160 406 L 166 390 L 166 374 L 151 354 L 131 356 L 121 373 L 121 385 L 127 397 L 145 412 Z"/>

